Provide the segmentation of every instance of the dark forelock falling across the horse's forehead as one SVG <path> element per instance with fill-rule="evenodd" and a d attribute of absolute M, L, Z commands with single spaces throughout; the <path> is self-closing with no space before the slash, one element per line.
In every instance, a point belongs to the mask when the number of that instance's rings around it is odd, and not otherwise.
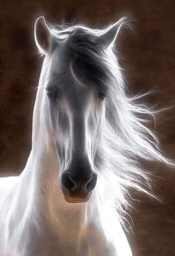
<path fill-rule="evenodd" d="M 76 27 L 67 44 L 71 59 L 76 63 L 76 67 L 82 70 L 85 78 L 101 91 L 107 91 L 106 84 L 111 73 L 104 61 L 105 49 L 100 45 L 98 36 L 82 27 Z"/>

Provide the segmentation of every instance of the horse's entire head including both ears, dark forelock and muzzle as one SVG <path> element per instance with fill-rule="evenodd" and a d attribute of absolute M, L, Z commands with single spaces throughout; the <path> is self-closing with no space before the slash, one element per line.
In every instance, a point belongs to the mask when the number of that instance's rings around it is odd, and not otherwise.
<path fill-rule="evenodd" d="M 93 162 L 105 116 L 102 99 L 109 76 L 104 62 L 100 64 L 99 56 L 103 55 L 99 52 L 104 53 L 113 45 L 124 20 L 120 19 L 100 36 L 75 27 L 72 32 L 59 31 L 56 37 L 44 17 L 36 20 L 36 45 L 50 62 L 46 86 L 49 104 L 44 107 L 49 112 L 59 156 L 62 191 L 69 202 L 87 201 L 96 186 Z"/>

